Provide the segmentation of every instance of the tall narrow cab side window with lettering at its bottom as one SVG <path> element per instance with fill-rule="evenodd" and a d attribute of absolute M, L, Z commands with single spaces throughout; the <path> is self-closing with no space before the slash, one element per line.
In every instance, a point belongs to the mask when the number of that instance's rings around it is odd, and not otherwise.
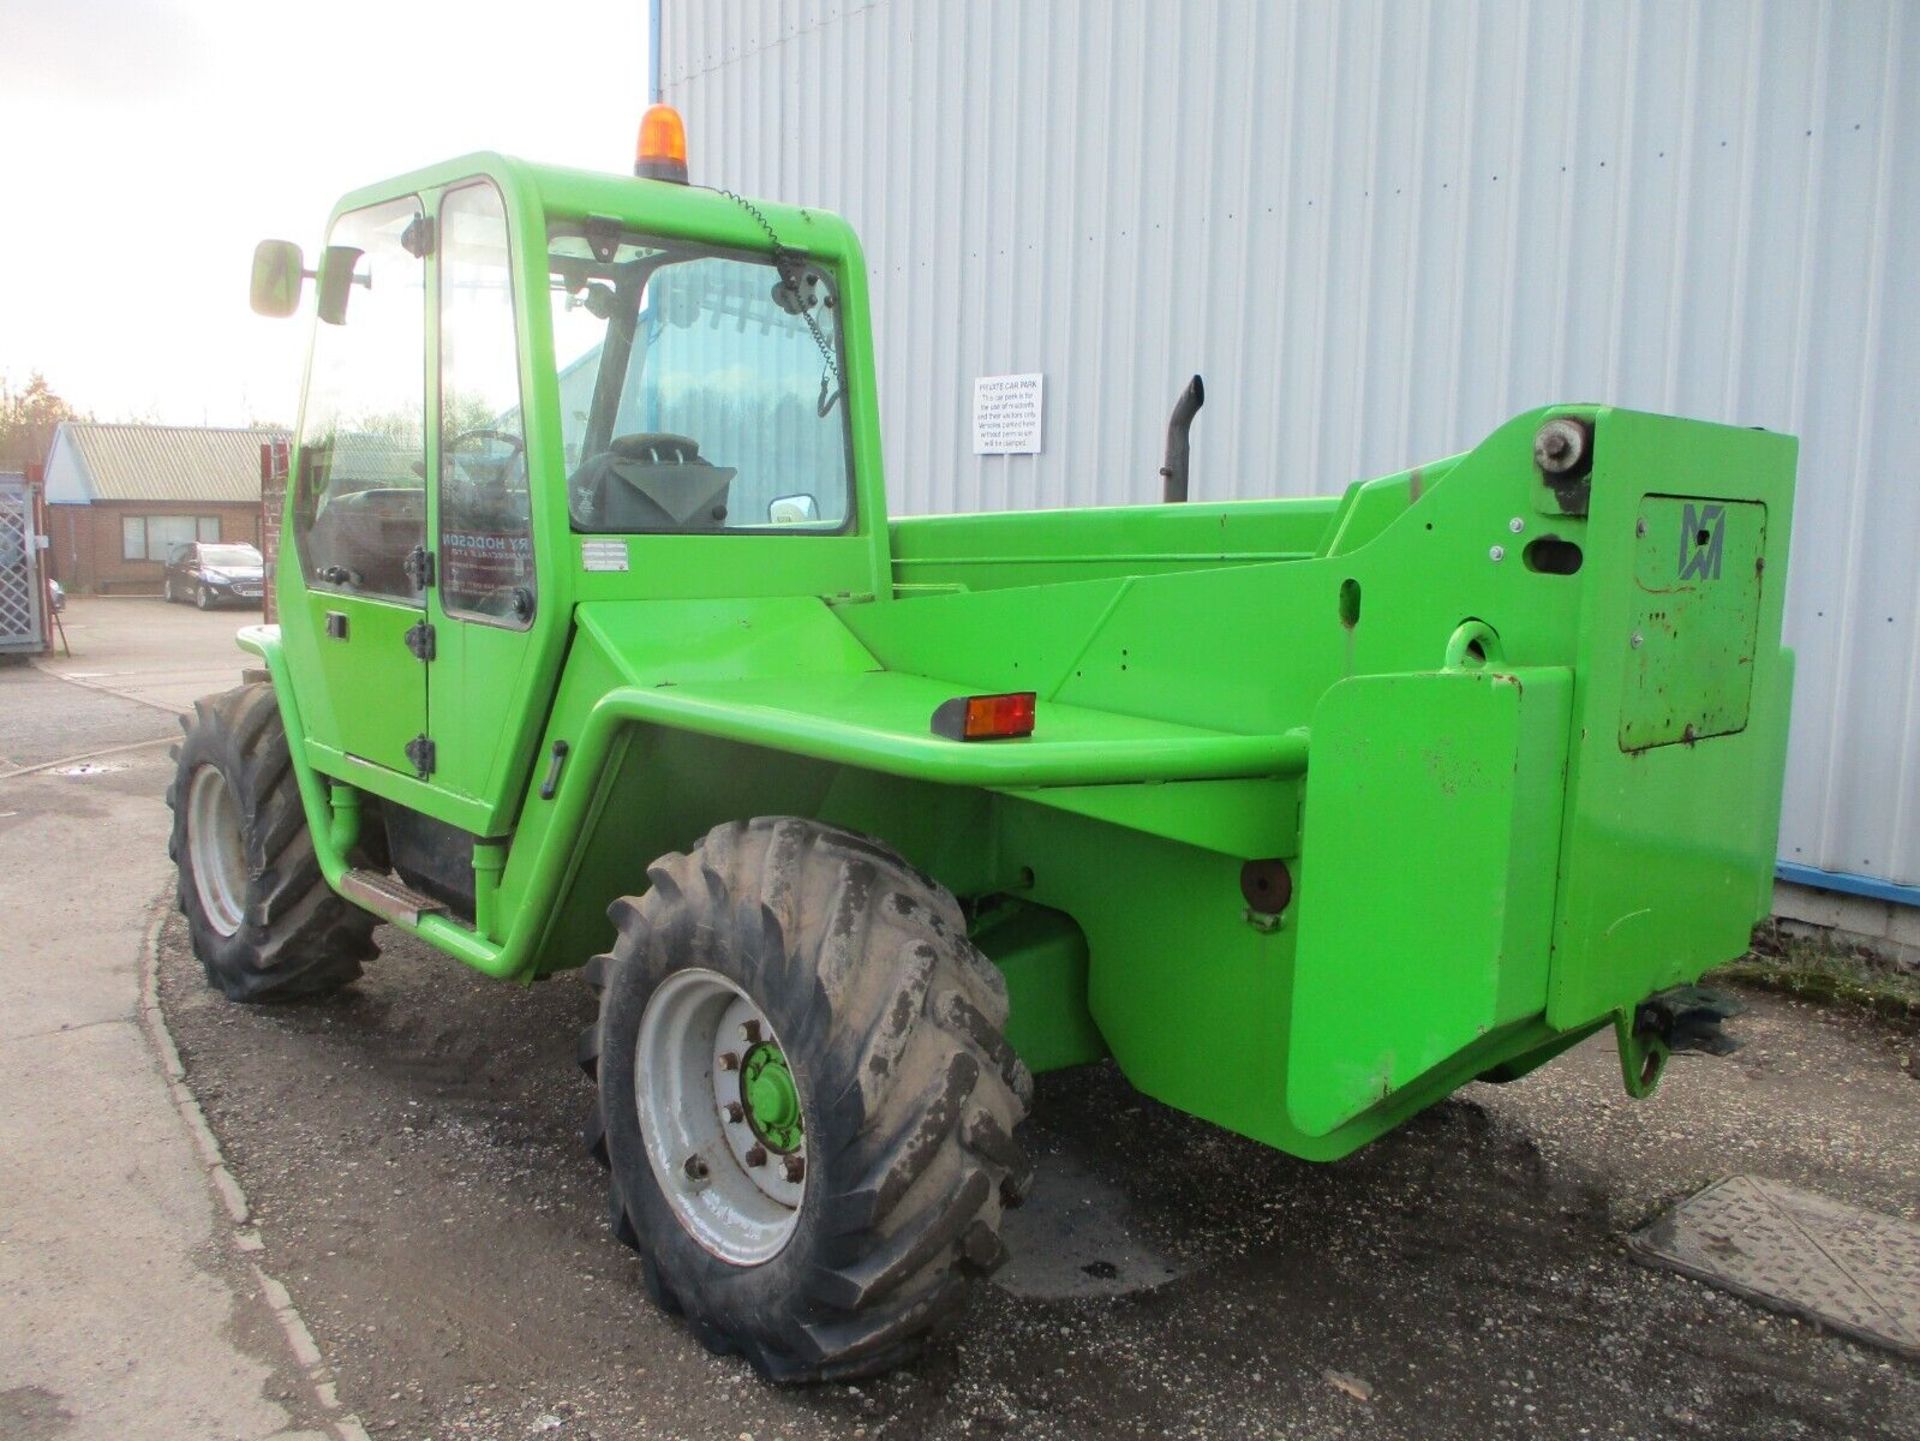
<path fill-rule="evenodd" d="M 488 182 L 440 207 L 440 599 L 505 626 L 534 616 L 532 505 L 507 209 Z"/>

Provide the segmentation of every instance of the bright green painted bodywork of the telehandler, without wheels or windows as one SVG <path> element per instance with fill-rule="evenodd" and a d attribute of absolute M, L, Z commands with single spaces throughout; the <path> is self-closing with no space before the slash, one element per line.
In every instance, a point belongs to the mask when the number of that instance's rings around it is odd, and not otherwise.
<path fill-rule="evenodd" d="M 768 249 L 714 192 L 495 155 L 342 209 L 413 194 L 434 213 L 476 175 L 516 255 L 540 255 L 549 217 L 589 215 Z M 837 278 L 852 528 L 634 535 L 628 572 L 586 572 L 545 272 L 524 267 L 532 626 L 463 622 L 428 589 L 434 662 L 359 660 L 359 637 L 386 647 L 420 614 L 382 606 L 355 618 L 349 664 L 326 650 L 332 597 L 280 564 L 282 624 L 242 633 L 330 881 L 363 794 L 478 837 L 472 923 L 405 925 L 524 982 L 605 950 L 607 904 L 655 856 L 808 815 L 962 900 L 1029 1065 L 1112 1053 L 1150 1096 L 1304 1157 L 1609 1023 L 1630 1084 L 1651 1084 L 1636 1005 L 1738 956 L 1768 909 L 1793 439 L 1572 405 L 1338 499 L 889 522 L 858 244 L 762 209 Z M 1592 426 L 1584 512 L 1534 466 L 1553 414 Z M 1680 545 L 1690 505 L 1718 507 L 1716 568 Z M 1542 539 L 1578 547 L 1578 570 L 1536 564 Z M 1035 691 L 1033 737 L 931 733 L 937 704 L 985 691 Z M 415 695 L 426 779 L 392 752 Z M 1279 913 L 1242 894 L 1250 860 L 1284 862 Z"/>

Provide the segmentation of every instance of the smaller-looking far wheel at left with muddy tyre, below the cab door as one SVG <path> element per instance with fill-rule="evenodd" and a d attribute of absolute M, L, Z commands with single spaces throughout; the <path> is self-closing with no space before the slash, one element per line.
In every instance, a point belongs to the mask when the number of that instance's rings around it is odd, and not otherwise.
<path fill-rule="evenodd" d="M 374 954 L 374 917 L 321 875 L 271 685 L 194 702 L 175 750 L 179 906 L 194 956 L 228 1000 L 338 990 Z"/>

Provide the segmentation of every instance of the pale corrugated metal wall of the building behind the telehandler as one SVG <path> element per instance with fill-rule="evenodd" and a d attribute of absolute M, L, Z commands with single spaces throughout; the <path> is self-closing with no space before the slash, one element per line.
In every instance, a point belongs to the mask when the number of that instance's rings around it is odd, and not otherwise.
<path fill-rule="evenodd" d="M 1782 858 L 1920 885 L 1920 8 L 666 0 L 693 178 L 860 228 L 900 512 L 1304 495 L 1599 399 L 1801 436 Z M 1041 370 L 1039 457 L 972 455 Z"/>

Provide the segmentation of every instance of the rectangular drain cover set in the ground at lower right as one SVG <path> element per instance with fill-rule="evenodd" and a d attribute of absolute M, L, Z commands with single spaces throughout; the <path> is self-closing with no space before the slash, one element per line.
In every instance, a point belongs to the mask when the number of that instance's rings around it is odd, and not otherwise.
<path fill-rule="evenodd" d="M 1649 1264 L 1920 1358 L 1920 1226 L 1732 1176 L 1626 1245 Z"/>

